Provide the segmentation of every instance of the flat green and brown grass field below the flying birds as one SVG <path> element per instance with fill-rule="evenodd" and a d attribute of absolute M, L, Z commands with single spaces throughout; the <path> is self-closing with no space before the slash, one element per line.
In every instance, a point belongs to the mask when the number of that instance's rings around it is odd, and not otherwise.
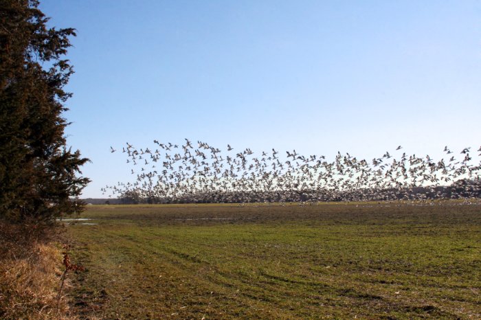
<path fill-rule="evenodd" d="M 82 317 L 481 318 L 481 205 L 105 205 L 69 225 Z"/>

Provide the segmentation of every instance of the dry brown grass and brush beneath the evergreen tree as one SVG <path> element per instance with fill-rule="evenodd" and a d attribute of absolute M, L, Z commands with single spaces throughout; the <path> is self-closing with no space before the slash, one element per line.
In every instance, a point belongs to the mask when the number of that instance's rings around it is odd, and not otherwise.
<path fill-rule="evenodd" d="M 67 319 L 58 228 L 0 222 L 0 318 Z M 58 306 L 57 306 L 58 304 Z"/>

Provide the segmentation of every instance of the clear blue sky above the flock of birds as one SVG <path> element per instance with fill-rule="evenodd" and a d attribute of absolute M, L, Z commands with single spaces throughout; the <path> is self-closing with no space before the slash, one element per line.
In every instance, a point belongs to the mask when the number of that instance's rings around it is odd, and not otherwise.
<path fill-rule="evenodd" d="M 127 181 L 120 152 L 225 149 L 438 158 L 481 144 L 481 2 L 43 0 L 74 27 L 67 142 L 85 197 Z M 285 152 L 284 152 L 285 153 Z M 474 152 L 473 152 L 474 153 Z"/>

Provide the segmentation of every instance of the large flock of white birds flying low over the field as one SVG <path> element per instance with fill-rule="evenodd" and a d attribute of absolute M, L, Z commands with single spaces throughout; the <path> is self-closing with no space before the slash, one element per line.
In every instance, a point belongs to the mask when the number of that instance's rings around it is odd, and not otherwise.
<path fill-rule="evenodd" d="M 429 155 L 393 153 L 371 161 L 337 152 L 326 157 L 300 155 L 295 150 L 254 153 L 250 148 L 227 152 L 197 141 L 183 144 L 154 140 L 155 150 L 122 151 L 133 165 L 135 181 L 102 188 L 104 194 L 147 203 L 252 203 L 306 201 L 381 201 L 481 196 L 481 163 L 472 164 L 464 148 L 435 161 Z M 481 155 L 480 155 L 481 156 Z"/>

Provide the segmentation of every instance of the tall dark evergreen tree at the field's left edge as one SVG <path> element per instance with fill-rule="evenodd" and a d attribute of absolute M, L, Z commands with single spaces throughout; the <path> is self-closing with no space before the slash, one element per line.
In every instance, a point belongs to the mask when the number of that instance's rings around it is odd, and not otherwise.
<path fill-rule="evenodd" d="M 89 160 L 67 149 L 62 116 L 75 30 L 47 21 L 36 0 L 0 0 L 0 218 L 9 220 L 79 212 L 89 182 L 78 176 Z"/>

